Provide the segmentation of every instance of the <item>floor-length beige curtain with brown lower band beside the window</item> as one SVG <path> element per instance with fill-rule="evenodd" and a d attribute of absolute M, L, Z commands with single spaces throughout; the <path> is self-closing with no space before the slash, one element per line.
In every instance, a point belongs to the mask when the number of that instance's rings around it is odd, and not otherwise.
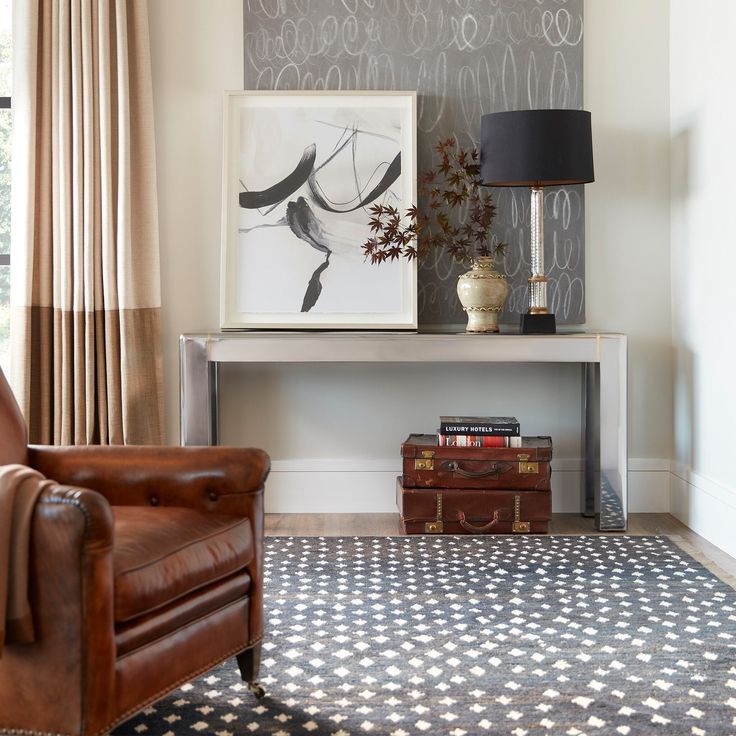
<path fill-rule="evenodd" d="M 146 0 L 15 0 L 11 374 L 31 442 L 163 441 Z"/>

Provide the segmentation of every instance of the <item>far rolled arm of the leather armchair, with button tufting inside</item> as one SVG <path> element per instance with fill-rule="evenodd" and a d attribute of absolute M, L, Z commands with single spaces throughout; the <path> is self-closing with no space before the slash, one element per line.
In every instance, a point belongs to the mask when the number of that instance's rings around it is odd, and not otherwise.
<path fill-rule="evenodd" d="M 251 507 L 270 469 L 262 450 L 236 447 L 30 446 L 29 464 L 59 483 L 94 488 L 113 506 Z M 240 498 L 239 498 L 240 497 Z"/>

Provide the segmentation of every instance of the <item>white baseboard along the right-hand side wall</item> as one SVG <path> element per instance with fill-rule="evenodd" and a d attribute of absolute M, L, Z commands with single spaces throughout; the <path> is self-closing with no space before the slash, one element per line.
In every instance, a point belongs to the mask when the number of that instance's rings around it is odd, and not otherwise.
<path fill-rule="evenodd" d="M 672 465 L 670 513 L 711 544 L 736 557 L 736 489 L 690 468 Z"/>

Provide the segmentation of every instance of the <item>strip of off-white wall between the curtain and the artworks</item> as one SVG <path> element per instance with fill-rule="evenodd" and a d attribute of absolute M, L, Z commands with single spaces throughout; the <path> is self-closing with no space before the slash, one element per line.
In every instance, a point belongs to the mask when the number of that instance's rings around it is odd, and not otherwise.
<path fill-rule="evenodd" d="M 179 441 L 179 335 L 219 324 L 222 93 L 243 86 L 242 9 L 242 0 L 148 3 L 171 443 Z"/>

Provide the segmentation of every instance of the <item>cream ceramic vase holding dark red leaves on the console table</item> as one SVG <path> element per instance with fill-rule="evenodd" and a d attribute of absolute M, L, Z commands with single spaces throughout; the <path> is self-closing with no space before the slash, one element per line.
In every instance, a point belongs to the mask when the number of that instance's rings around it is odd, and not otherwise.
<path fill-rule="evenodd" d="M 473 261 L 470 271 L 457 280 L 457 295 L 468 315 L 466 332 L 498 332 L 498 315 L 506 303 L 506 277 L 493 267 L 491 256 Z"/>

